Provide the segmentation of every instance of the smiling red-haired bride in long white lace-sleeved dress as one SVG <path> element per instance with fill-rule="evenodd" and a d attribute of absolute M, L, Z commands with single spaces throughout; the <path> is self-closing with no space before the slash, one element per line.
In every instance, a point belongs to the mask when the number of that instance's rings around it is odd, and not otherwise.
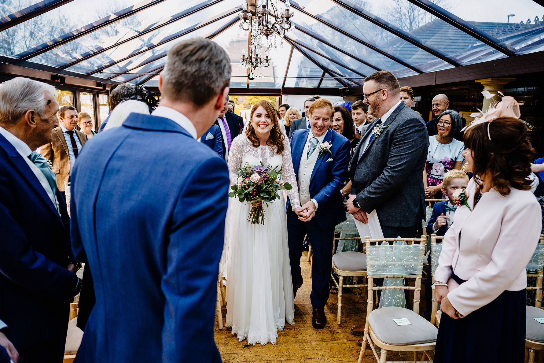
<path fill-rule="evenodd" d="M 280 130 L 274 107 L 259 101 L 251 110 L 251 124 L 232 140 L 228 154 L 231 185 L 236 183 L 238 168 L 270 164 L 283 169 L 282 179 L 293 186 L 287 193 L 292 208 L 299 208 L 291 151 L 287 137 Z M 246 133 L 254 139 L 255 145 Z M 278 153 L 278 146 L 283 150 Z M 281 149 L 281 148 L 280 148 Z M 294 324 L 293 285 L 287 244 L 286 204 L 280 199 L 264 205 L 264 225 L 251 224 L 251 204 L 230 198 L 226 220 L 227 245 L 227 317 L 239 341 L 249 344 L 276 343 L 277 330 L 285 321 Z"/>

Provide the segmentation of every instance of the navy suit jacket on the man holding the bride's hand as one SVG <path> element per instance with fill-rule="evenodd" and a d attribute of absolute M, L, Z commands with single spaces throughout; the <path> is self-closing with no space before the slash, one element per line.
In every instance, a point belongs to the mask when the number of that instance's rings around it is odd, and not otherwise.
<path fill-rule="evenodd" d="M 296 182 L 299 180 L 300 159 L 306 145 L 306 139 L 310 128 L 295 130 L 291 142 L 291 157 L 295 169 Z M 324 151 L 318 157 L 313 168 L 310 179 L 310 198 L 315 199 L 318 204 L 316 216 L 319 225 L 323 229 L 330 229 L 346 220 L 345 208 L 340 195 L 344 187 L 344 180 L 348 174 L 349 151 L 351 144 L 349 140 L 331 128 L 327 131 L 323 142 L 329 141 L 332 145 L 328 151 Z M 314 152 L 319 152 L 318 150 Z M 332 159 L 329 161 L 329 159 Z M 300 187 L 300 184 L 299 184 Z M 287 208 L 290 208 L 287 198 Z"/>

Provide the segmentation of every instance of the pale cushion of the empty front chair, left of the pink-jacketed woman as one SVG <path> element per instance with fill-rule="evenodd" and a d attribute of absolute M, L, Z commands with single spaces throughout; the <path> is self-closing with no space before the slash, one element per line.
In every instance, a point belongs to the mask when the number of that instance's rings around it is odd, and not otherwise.
<path fill-rule="evenodd" d="M 407 318 L 412 325 L 397 325 L 393 321 L 401 318 Z M 368 322 L 379 340 L 393 346 L 432 343 L 438 334 L 438 329 L 424 317 L 404 307 L 380 307 L 370 312 Z"/>

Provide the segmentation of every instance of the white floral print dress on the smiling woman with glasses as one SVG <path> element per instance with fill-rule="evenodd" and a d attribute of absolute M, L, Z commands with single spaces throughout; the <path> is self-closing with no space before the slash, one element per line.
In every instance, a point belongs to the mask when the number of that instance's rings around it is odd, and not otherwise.
<path fill-rule="evenodd" d="M 465 150 L 465 144 L 453 139 L 449 144 L 441 144 L 436 136 L 429 137 L 429 151 L 427 153 L 427 185 L 442 183 L 444 174 L 452 170 L 456 161 L 462 161 L 461 153 Z"/>

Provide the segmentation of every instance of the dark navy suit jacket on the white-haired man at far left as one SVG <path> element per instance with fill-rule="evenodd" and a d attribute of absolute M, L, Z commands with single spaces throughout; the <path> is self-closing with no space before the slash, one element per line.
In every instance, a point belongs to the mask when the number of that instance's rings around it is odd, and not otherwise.
<path fill-rule="evenodd" d="M 70 220 L 61 217 L 40 181 L 0 135 L 0 320 L 16 349 L 66 336 L 77 276 L 70 260 Z"/>

